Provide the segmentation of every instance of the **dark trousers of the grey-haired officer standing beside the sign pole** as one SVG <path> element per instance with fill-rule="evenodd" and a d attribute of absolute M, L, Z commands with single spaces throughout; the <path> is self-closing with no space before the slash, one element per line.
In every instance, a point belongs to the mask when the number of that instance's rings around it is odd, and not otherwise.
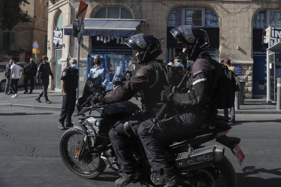
<path fill-rule="evenodd" d="M 64 122 L 64 120 L 71 122 L 71 116 L 75 110 L 76 103 L 76 90 L 66 91 L 67 98 L 62 96 L 62 106 L 61 106 L 61 115 L 60 122 Z"/>

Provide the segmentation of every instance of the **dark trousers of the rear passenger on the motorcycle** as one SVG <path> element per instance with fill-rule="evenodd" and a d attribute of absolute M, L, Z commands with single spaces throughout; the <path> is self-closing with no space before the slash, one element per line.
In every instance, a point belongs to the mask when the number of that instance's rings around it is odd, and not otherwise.
<path fill-rule="evenodd" d="M 197 120 L 189 117 L 188 113 L 162 120 L 162 123 L 163 132 L 155 128 L 153 133 L 149 133 L 148 131 L 153 125 L 150 119 L 142 122 L 138 127 L 138 136 L 143 144 L 148 162 L 154 171 L 169 166 L 159 139 L 175 140 L 179 136 L 183 136 L 187 131 L 200 128 Z"/>

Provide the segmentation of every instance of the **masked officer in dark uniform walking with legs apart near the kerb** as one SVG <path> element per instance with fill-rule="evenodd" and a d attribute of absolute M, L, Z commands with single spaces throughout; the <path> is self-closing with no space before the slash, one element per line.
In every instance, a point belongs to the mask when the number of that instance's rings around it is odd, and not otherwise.
<path fill-rule="evenodd" d="M 39 77 L 41 78 L 42 82 L 42 91 L 39 93 L 37 98 L 35 99 L 38 103 L 41 103 L 40 98 L 44 94 L 44 98 L 46 103 L 50 104 L 52 101 L 49 101 L 47 96 L 47 89 L 49 86 L 49 76 L 51 75 L 52 80 L 54 80 L 54 75 L 51 71 L 50 64 L 48 63 L 49 58 L 47 56 L 42 56 L 43 63 L 41 63 L 37 70 L 37 84 L 39 84 Z"/>

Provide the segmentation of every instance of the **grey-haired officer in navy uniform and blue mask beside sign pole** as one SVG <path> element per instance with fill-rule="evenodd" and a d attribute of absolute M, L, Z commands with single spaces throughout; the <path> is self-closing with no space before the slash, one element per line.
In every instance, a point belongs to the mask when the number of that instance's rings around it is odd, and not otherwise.
<path fill-rule="evenodd" d="M 71 115 L 75 109 L 78 78 L 77 61 L 71 59 L 69 61 L 69 67 L 65 68 L 61 73 L 61 89 L 63 92 L 61 118 L 59 119 L 59 129 L 61 130 L 64 130 L 65 127 L 73 127 L 73 123 L 71 123 Z M 66 120 L 65 125 L 64 120 Z"/>

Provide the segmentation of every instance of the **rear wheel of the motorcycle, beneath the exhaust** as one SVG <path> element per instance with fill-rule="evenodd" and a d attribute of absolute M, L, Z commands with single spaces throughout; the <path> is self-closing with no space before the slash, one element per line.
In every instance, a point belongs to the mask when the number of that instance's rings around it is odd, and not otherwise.
<path fill-rule="evenodd" d="M 179 187 L 236 187 L 236 174 L 227 157 L 209 167 L 178 175 Z"/>

